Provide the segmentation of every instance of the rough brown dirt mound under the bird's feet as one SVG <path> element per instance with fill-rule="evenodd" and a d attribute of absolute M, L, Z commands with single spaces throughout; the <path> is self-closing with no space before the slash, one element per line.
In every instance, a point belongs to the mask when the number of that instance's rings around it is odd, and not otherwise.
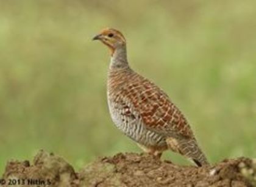
<path fill-rule="evenodd" d="M 100 158 L 79 172 L 63 158 L 41 150 L 29 161 L 10 161 L 2 186 L 253 186 L 256 161 L 224 160 L 215 166 L 177 166 L 149 155 L 119 153 Z"/>

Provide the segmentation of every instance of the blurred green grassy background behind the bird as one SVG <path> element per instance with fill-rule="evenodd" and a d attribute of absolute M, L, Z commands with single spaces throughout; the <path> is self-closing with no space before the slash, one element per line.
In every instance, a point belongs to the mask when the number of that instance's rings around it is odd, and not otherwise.
<path fill-rule="evenodd" d="M 106 101 L 104 27 L 127 39 L 130 65 L 185 113 L 212 162 L 255 157 L 256 1 L 0 0 L 0 174 L 38 149 L 77 169 L 141 152 Z M 164 157 L 188 164 L 171 152 Z"/>

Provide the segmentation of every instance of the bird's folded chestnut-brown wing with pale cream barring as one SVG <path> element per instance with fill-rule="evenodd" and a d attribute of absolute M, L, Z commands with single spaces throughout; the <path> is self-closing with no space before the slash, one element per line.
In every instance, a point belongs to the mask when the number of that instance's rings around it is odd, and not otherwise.
<path fill-rule="evenodd" d="M 140 81 L 129 86 L 129 101 L 140 115 L 143 125 L 166 136 L 193 138 L 185 117 L 154 83 L 137 74 Z"/>

